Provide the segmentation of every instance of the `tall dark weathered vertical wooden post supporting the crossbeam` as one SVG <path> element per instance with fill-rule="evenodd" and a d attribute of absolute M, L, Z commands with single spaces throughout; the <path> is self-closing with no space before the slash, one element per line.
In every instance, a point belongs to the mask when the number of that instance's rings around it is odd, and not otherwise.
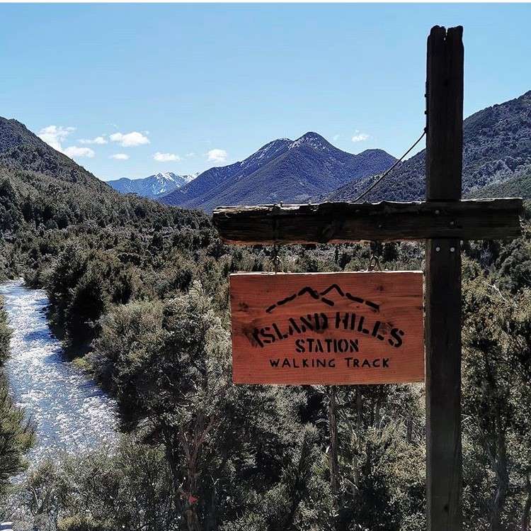
<path fill-rule="evenodd" d="M 426 77 L 426 200 L 459 201 L 463 28 L 432 28 Z M 435 216 L 438 212 L 435 211 Z M 450 220 L 450 223 L 455 223 Z M 428 531 L 460 531 L 461 245 L 426 240 L 426 502 Z"/>

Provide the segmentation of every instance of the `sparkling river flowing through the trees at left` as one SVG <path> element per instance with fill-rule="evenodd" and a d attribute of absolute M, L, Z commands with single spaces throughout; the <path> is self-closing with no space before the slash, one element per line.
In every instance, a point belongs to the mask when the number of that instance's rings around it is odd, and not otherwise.
<path fill-rule="evenodd" d="M 117 437 L 116 404 L 72 362 L 48 326 L 45 291 L 23 281 L 0 284 L 13 330 L 6 374 L 13 396 L 33 420 L 37 442 L 32 465 L 57 450 L 80 452 Z"/>

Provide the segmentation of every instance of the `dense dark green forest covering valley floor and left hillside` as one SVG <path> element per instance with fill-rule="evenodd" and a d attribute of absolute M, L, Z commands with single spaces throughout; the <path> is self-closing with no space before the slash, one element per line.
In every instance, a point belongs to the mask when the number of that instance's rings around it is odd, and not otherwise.
<path fill-rule="evenodd" d="M 204 213 L 120 196 L 51 148 L 28 166 L 25 146 L 0 167 L 0 278 L 47 291 L 55 333 L 117 398 L 123 435 L 13 485 L 33 431 L 0 379 L 0 515 L 61 531 L 426 528 L 423 385 L 234 386 L 228 275 L 273 270 L 273 250 L 224 245 Z M 462 250 L 465 529 L 527 531 L 529 211 L 518 240 Z M 377 252 L 384 269 L 423 268 L 420 244 Z M 369 257 L 280 250 L 290 272 Z M 0 312 L 0 363 L 8 337 Z"/>

